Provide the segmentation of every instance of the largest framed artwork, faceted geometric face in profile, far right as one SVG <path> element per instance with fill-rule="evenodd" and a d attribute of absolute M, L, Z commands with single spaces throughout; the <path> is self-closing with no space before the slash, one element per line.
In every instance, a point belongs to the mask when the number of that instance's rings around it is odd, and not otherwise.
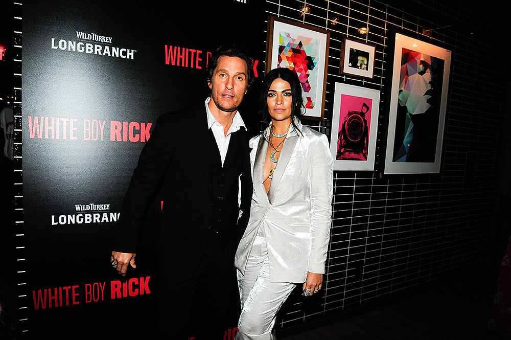
<path fill-rule="evenodd" d="M 451 51 L 392 32 L 384 174 L 439 173 Z"/>

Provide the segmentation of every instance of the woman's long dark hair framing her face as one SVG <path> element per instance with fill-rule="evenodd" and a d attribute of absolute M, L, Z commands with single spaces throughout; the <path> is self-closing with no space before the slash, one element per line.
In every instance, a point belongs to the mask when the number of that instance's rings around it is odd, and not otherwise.
<path fill-rule="evenodd" d="M 291 111 L 291 124 L 296 131 L 300 131 L 295 123 L 295 117 L 300 118 L 303 115 L 305 109 L 304 99 L 301 97 L 301 83 L 300 79 L 294 71 L 286 69 L 285 67 L 277 67 L 276 69 L 268 72 L 263 80 L 261 86 L 261 98 L 259 104 L 259 114 L 261 115 L 261 131 L 264 131 L 271 122 L 271 116 L 268 112 L 268 90 L 270 89 L 273 80 L 282 79 L 287 81 L 291 85 L 291 98 L 293 110 Z"/>

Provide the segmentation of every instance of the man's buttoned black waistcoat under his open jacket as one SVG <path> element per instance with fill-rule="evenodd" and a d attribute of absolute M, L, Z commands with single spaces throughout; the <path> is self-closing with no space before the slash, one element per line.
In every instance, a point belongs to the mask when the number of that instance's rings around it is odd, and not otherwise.
<path fill-rule="evenodd" d="M 242 149 L 240 133 L 233 132 L 224 165 L 220 158 L 217 143 L 210 129 L 211 166 L 213 184 L 212 232 L 218 236 L 220 245 L 225 248 L 236 234 L 239 217 L 239 177 L 242 173 Z"/>

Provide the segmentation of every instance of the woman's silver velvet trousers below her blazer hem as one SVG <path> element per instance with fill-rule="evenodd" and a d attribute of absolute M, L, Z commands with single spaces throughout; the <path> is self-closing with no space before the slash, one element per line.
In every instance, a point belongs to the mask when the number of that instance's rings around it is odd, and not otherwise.
<path fill-rule="evenodd" d="M 241 315 L 235 340 L 273 340 L 271 334 L 278 309 L 296 287 L 294 283 L 270 282 L 268 251 L 263 228 L 255 237 L 245 275 L 238 270 Z"/>

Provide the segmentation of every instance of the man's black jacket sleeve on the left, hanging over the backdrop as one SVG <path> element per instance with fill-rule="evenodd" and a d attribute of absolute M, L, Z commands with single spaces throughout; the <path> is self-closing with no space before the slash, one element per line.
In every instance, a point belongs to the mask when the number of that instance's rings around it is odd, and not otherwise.
<path fill-rule="evenodd" d="M 172 160 L 170 115 L 158 117 L 151 137 L 142 149 L 126 192 L 112 250 L 135 253 L 148 205 L 157 194 Z"/>

